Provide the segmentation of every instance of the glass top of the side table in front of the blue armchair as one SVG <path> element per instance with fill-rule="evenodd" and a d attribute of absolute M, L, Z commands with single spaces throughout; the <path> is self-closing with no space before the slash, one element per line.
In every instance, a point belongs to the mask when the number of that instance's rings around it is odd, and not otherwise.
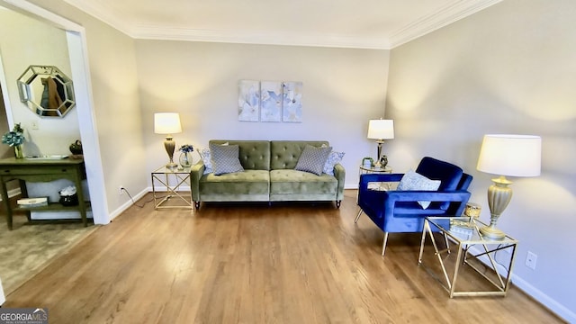
<path fill-rule="evenodd" d="M 483 237 L 480 229 L 487 226 L 481 220 L 470 217 L 427 217 L 430 229 L 440 229 L 463 244 L 517 244 L 518 240 L 508 235 L 504 238 Z"/>

